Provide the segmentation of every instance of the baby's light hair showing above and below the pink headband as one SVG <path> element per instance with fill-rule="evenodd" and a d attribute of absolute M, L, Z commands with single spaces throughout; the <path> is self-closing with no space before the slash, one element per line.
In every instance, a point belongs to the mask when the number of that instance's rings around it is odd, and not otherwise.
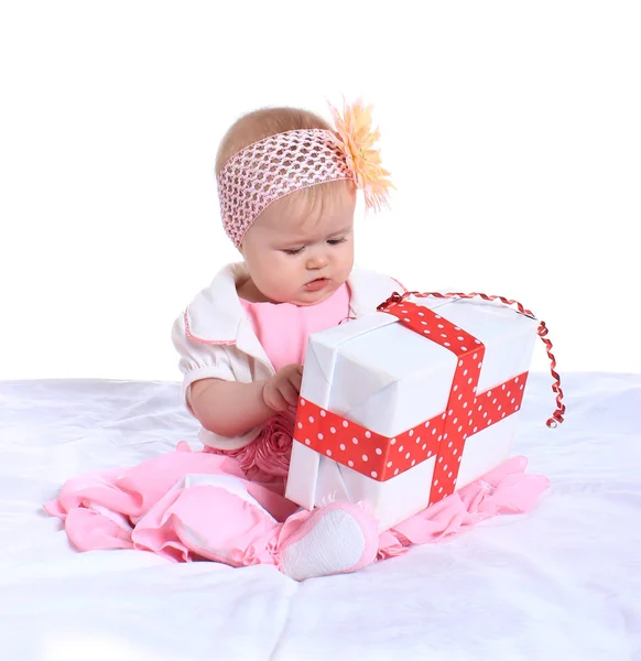
<path fill-rule="evenodd" d="M 231 156 L 246 147 L 276 133 L 300 129 L 333 130 L 332 126 L 322 117 L 302 108 L 260 108 L 243 115 L 231 124 L 220 141 L 216 154 L 216 174 L 219 174 Z M 323 213 L 328 202 L 355 189 L 354 182 L 347 180 L 325 182 L 294 191 L 279 202 L 284 204 L 303 202 L 306 203 L 308 209 L 319 205 L 320 213 Z"/>

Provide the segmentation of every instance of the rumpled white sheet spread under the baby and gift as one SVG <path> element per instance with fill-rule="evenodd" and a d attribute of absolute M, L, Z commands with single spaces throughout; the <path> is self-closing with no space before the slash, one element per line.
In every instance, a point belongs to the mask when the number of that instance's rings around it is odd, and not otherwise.
<path fill-rule="evenodd" d="M 366 571 L 74 551 L 41 503 L 77 473 L 197 447 L 175 383 L 0 382 L 0 658 L 7 661 L 641 659 L 641 375 L 566 375 L 551 431 L 532 375 L 514 453 L 537 510 Z"/>

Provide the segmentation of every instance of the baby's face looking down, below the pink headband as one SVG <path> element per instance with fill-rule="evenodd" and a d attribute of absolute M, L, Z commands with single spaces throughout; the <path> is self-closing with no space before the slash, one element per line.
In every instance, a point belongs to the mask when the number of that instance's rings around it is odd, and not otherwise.
<path fill-rule="evenodd" d="M 320 213 L 308 205 L 270 205 L 248 229 L 242 256 L 254 301 L 315 305 L 329 297 L 354 266 L 356 194 L 333 196 Z"/>

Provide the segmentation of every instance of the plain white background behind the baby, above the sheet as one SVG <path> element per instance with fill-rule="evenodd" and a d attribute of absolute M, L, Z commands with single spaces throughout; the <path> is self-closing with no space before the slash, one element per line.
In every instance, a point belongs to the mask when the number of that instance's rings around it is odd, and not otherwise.
<path fill-rule="evenodd" d="M 0 8 L 0 379 L 178 380 L 172 322 L 238 257 L 219 139 L 343 95 L 398 188 L 360 264 L 521 301 L 562 375 L 641 371 L 638 2 Z"/>

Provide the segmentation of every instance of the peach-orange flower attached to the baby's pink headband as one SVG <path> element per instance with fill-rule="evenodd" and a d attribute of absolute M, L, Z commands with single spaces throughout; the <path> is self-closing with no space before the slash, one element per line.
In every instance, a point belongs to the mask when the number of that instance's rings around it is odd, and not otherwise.
<path fill-rule="evenodd" d="M 345 152 L 357 186 L 363 192 L 366 207 L 379 212 L 383 206 L 389 206 L 388 195 L 394 186 L 390 173 L 381 165 L 381 156 L 376 148 L 380 131 L 372 129 L 371 109 L 371 106 L 363 106 L 361 101 L 351 106 L 344 102 L 341 116 L 329 104 L 338 145 Z"/>

